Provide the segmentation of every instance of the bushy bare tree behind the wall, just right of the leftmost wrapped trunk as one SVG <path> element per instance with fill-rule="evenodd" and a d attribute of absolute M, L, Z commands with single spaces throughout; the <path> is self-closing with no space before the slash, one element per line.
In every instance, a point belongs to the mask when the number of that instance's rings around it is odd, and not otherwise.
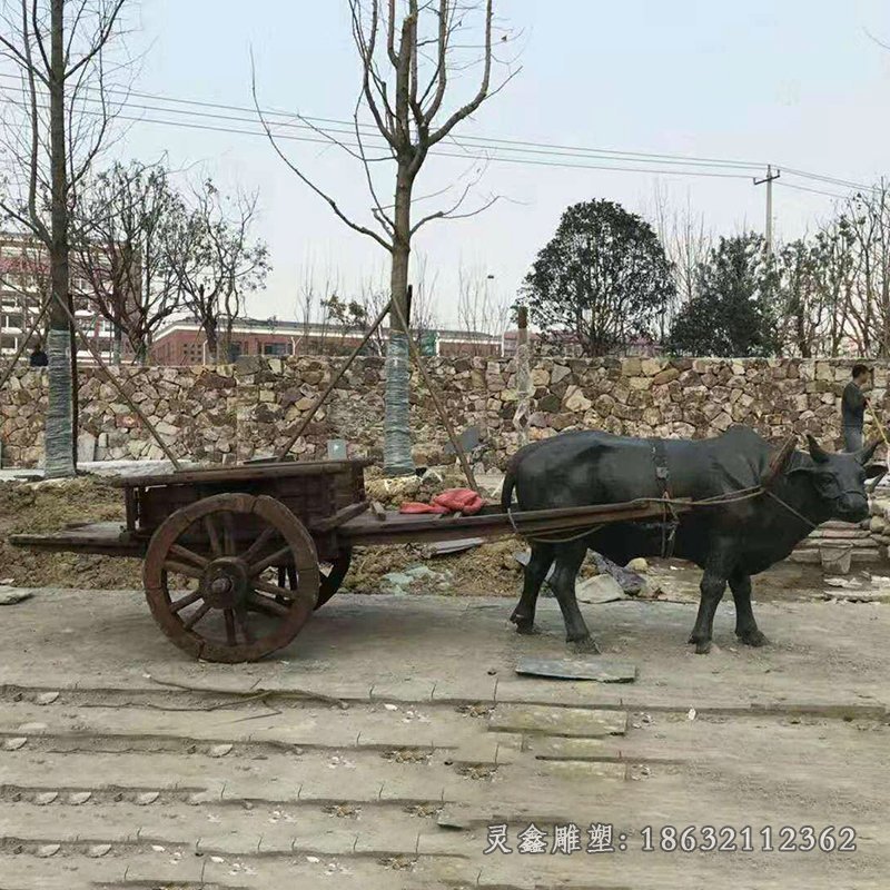
<path fill-rule="evenodd" d="M 116 164 L 97 176 L 78 208 L 75 250 L 87 297 L 148 364 L 158 327 L 180 308 L 174 265 L 185 205 L 160 165 Z"/>

